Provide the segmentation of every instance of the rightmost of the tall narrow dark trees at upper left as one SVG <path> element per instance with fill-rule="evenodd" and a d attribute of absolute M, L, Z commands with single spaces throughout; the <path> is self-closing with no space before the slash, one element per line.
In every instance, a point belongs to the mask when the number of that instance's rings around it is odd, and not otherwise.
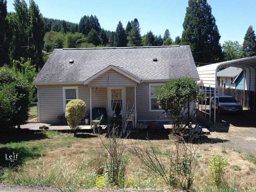
<path fill-rule="evenodd" d="M 32 44 L 32 55 L 31 59 L 34 65 L 37 65 L 38 68 L 42 68 L 44 65 L 43 62 L 43 53 L 44 48 L 44 18 L 40 13 L 38 5 L 33 1 L 29 1 L 29 31 L 31 32 L 31 44 Z"/>

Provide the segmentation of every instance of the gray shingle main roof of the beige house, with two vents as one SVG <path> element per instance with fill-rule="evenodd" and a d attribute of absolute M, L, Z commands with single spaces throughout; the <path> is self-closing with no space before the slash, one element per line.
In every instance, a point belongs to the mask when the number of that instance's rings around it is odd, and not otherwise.
<path fill-rule="evenodd" d="M 142 80 L 199 80 L 189 46 L 158 46 L 55 49 L 34 83 L 83 82 L 109 65 Z"/>

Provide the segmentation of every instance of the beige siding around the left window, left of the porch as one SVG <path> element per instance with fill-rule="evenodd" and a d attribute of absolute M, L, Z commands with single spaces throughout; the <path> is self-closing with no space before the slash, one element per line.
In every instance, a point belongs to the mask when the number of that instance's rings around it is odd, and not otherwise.
<path fill-rule="evenodd" d="M 86 103 L 90 109 L 90 90 L 86 85 L 38 85 L 40 122 L 58 123 L 59 115 L 63 115 L 62 87 L 78 86 L 78 99 Z"/>

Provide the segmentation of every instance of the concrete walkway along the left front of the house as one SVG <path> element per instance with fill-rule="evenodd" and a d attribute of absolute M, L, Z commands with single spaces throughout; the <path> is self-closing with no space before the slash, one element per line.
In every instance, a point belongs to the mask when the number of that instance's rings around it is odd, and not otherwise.
<path fill-rule="evenodd" d="M 20 128 L 22 129 L 30 129 L 30 130 L 39 130 L 40 126 L 47 126 L 49 127 L 48 130 L 70 130 L 70 127 L 67 123 L 56 123 L 56 124 L 47 124 L 47 123 L 27 123 L 25 125 L 21 125 Z M 90 130 L 90 125 L 80 125 L 81 129 Z"/>

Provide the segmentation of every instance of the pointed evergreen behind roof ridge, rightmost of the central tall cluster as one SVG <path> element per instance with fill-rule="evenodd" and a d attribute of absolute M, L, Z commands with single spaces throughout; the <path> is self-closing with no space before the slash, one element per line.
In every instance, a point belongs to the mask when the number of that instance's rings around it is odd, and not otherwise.
<path fill-rule="evenodd" d="M 140 35 L 140 24 L 138 22 L 138 19 L 134 19 L 132 22 L 132 29 L 128 34 L 127 40 L 127 46 L 128 47 L 138 47 L 141 46 L 141 35 Z"/>

